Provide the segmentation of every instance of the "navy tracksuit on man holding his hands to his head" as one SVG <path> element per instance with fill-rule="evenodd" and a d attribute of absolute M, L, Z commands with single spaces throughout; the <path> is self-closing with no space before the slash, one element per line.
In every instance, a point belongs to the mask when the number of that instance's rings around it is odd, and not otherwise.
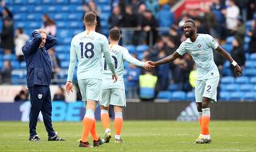
<path fill-rule="evenodd" d="M 32 40 L 27 41 L 22 47 L 22 52 L 26 60 L 26 80 L 30 91 L 30 138 L 33 138 L 36 132 L 39 112 L 42 112 L 43 122 L 49 137 L 55 135 L 51 123 L 51 63 L 47 49 L 57 44 L 56 38 L 47 35 L 44 48 L 40 49 L 42 42 L 41 35 L 34 31 Z"/>

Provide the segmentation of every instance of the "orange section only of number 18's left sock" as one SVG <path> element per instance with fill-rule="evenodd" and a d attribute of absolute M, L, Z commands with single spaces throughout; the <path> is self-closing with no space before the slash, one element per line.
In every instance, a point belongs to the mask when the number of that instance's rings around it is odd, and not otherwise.
<path fill-rule="evenodd" d="M 94 119 L 84 118 L 82 121 L 82 142 L 88 142 L 91 127 L 94 124 Z"/>

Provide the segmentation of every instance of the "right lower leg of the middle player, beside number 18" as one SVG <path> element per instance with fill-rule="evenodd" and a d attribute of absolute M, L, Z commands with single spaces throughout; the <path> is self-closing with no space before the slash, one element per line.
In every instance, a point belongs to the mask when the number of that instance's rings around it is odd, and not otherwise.
<path fill-rule="evenodd" d="M 121 131 L 122 131 L 122 107 L 114 106 L 114 142 L 120 143 L 121 139 Z"/>

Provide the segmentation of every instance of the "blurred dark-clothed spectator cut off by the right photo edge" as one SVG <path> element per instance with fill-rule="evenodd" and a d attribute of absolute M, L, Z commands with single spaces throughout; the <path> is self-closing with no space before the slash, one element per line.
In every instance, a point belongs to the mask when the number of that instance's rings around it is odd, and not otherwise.
<path fill-rule="evenodd" d="M 256 53 L 256 15 L 251 23 L 251 29 L 247 35 L 250 37 L 249 53 Z"/>

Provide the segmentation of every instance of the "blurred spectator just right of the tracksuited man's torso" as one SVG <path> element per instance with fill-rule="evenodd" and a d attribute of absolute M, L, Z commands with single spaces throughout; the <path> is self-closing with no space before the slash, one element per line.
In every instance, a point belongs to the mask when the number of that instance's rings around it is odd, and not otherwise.
<path fill-rule="evenodd" d="M 50 56 L 50 63 L 51 63 L 51 79 L 52 83 L 56 84 L 56 81 L 58 79 L 58 72 L 61 71 L 60 68 L 60 60 L 58 59 L 57 55 L 55 54 L 55 49 L 51 48 L 48 50 L 49 56 Z"/>

